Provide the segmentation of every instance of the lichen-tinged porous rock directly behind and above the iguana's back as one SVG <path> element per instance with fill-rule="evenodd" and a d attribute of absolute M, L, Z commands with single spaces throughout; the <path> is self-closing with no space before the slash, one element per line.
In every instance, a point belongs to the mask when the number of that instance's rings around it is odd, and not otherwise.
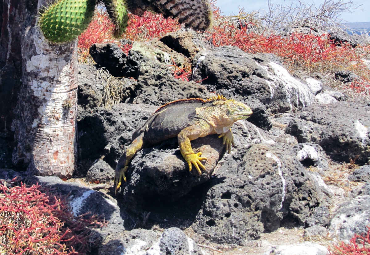
<path fill-rule="evenodd" d="M 184 98 L 209 98 L 214 94 L 194 81 L 175 79 L 169 65 L 188 63 L 179 54 L 162 42 L 134 42 L 127 56 L 125 76 L 137 79 L 137 89 L 133 103 L 147 103 L 161 106 Z"/>

